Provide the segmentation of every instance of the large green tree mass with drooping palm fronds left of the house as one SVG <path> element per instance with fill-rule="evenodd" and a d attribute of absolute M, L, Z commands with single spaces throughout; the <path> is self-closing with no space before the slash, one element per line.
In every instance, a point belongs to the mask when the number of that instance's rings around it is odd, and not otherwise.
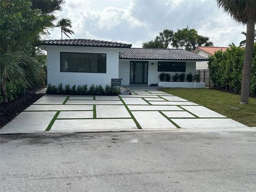
<path fill-rule="evenodd" d="M 29 0 L 2 0 L 0 12 L 0 82 L 1 94 L 7 102 L 7 82 L 17 80 L 31 85 L 43 78 L 43 69 L 34 57 L 35 44 L 55 17 L 33 9 Z"/>

